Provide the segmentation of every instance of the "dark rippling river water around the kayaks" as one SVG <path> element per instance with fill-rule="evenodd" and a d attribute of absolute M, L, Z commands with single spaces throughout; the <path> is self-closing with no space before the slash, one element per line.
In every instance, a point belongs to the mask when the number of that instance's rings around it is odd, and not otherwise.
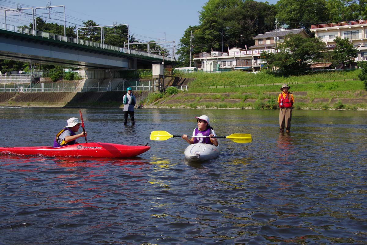
<path fill-rule="evenodd" d="M 88 142 L 146 144 L 131 159 L 0 156 L 0 244 L 367 244 L 367 111 L 81 109 Z M 221 155 L 184 158 L 208 115 Z M 0 108 L 1 146 L 51 145 L 79 109 Z M 80 138 L 79 142 L 84 139 Z"/>

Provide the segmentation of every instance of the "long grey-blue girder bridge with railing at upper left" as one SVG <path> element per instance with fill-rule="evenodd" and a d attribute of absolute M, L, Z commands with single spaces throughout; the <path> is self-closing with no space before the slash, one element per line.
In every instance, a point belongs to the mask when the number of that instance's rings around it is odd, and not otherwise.
<path fill-rule="evenodd" d="M 0 24 L 0 58 L 40 64 L 112 70 L 152 69 L 175 59 L 73 37 Z M 108 70 L 106 70 L 108 69 Z"/>

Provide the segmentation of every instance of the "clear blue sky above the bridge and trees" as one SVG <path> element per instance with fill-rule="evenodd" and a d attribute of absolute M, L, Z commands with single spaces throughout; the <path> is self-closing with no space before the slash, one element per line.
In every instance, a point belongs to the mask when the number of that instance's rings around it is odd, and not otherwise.
<path fill-rule="evenodd" d="M 39 8 L 50 5 L 51 0 L 0 0 L 0 23 L 4 23 L 4 10 Z M 136 39 L 176 41 L 183 36 L 190 25 L 197 25 L 198 12 L 207 0 L 52 0 L 51 6 L 65 6 L 66 25 L 82 26 L 82 21 L 91 19 L 100 26 L 128 24 L 130 34 Z M 275 4 L 277 0 L 269 0 Z M 30 13 L 31 10 L 28 10 Z M 26 12 L 26 10 L 25 10 Z M 59 12 L 59 13 L 55 13 Z M 37 9 L 37 17 L 48 17 L 47 9 Z M 11 16 L 12 15 L 12 16 Z M 63 25 L 63 8 L 52 8 L 51 18 Z M 57 20 L 56 20 L 57 19 Z M 16 12 L 7 11 L 7 24 L 29 25 L 31 18 L 17 16 Z"/>

